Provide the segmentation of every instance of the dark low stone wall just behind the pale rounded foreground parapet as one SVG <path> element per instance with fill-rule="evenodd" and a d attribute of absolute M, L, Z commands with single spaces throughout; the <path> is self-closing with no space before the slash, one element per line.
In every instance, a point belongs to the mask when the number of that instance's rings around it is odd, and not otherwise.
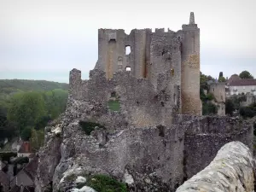
<path fill-rule="evenodd" d="M 184 143 L 187 177 L 206 167 L 225 143 L 240 141 L 253 149 L 253 126 L 239 119 L 201 117 L 184 126 L 188 126 Z"/>

